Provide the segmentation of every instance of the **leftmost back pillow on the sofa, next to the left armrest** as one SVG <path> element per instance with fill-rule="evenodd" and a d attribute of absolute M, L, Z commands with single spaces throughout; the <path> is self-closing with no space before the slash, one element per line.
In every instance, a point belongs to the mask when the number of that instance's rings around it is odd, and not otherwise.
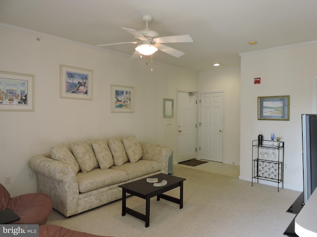
<path fill-rule="evenodd" d="M 69 150 L 69 147 L 65 144 L 60 144 L 58 146 L 51 148 L 51 158 L 65 164 L 68 164 L 75 173 L 77 173 L 80 168 L 79 165 Z"/>

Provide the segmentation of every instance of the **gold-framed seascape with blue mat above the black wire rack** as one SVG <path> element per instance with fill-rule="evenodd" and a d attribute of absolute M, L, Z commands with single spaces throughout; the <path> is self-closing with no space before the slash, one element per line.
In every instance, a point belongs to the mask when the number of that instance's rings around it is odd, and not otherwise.
<path fill-rule="evenodd" d="M 289 120 L 289 95 L 258 97 L 258 120 Z"/>

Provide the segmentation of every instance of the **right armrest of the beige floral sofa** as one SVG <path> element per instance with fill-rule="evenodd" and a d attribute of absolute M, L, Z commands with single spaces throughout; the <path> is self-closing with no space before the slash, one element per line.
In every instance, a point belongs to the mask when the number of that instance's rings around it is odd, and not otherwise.
<path fill-rule="evenodd" d="M 142 159 L 154 160 L 162 164 L 162 172 L 168 173 L 168 158 L 172 151 L 168 147 L 149 143 L 140 143 L 142 147 Z"/>

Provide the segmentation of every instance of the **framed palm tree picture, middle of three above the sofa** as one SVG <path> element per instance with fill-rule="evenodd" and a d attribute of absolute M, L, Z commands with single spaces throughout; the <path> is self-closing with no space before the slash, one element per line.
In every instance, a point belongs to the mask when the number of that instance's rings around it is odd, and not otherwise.
<path fill-rule="evenodd" d="M 93 71 L 60 65 L 60 98 L 92 100 Z"/>

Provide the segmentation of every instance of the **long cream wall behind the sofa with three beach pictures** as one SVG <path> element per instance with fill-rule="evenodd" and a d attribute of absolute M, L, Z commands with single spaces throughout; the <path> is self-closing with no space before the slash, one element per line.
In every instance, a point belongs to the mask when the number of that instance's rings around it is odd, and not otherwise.
<path fill-rule="evenodd" d="M 0 111 L 0 183 L 11 176 L 11 196 L 37 192 L 29 160 L 60 143 L 135 134 L 176 151 L 175 118 L 166 126 L 163 98 L 196 91 L 196 72 L 156 62 L 151 72 L 141 59 L 5 25 L 0 35 L 0 71 L 35 75 L 35 111 Z M 59 98 L 60 64 L 93 70 L 92 101 Z M 135 113 L 110 113 L 110 84 L 135 87 Z"/>

